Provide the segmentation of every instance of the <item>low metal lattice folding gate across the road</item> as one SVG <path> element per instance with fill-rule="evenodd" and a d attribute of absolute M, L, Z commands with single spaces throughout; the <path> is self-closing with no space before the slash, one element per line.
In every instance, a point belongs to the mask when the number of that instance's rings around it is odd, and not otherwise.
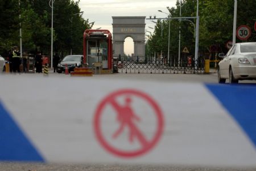
<path fill-rule="evenodd" d="M 204 59 L 166 61 L 152 60 L 120 60 L 119 73 L 148 73 L 148 74 L 204 74 Z"/>

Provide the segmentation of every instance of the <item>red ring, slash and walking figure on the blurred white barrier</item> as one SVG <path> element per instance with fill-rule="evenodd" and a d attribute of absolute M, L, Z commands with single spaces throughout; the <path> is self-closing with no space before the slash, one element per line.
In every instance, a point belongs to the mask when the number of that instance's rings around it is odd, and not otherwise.
<path fill-rule="evenodd" d="M 124 105 L 118 104 L 117 99 L 121 96 L 125 97 Z M 135 124 L 136 121 L 139 122 L 143 120 L 143 118 L 138 117 L 137 114 L 134 112 L 134 109 L 131 107 L 133 99 L 143 100 L 153 110 L 156 118 L 156 130 L 154 131 L 154 135 L 150 139 L 146 138 L 146 136 L 143 134 L 143 131 L 140 130 L 139 127 L 137 127 L 137 125 Z M 117 147 L 114 147 L 106 140 L 102 132 L 103 122 L 101 121 L 102 113 L 104 113 L 106 105 L 110 105 L 114 109 L 113 111 L 117 116 L 117 121 L 115 121 L 114 124 L 118 124 L 119 126 L 118 129 L 113 132 L 112 140 L 115 140 L 119 135 L 124 134 L 123 130 L 126 128 L 129 130 L 129 134 L 127 135 L 127 137 L 130 143 L 134 140 L 137 140 L 140 144 L 139 149 L 119 149 Z M 147 115 L 143 114 L 143 117 L 146 118 Z M 106 96 L 100 102 L 96 109 L 93 124 L 96 138 L 98 139 L 98 142 L 100 142 L 101 146 L 104 147 L 106 151 L 109 151 L 110 153 L 119 157 L 137 157 L 150 151 L 156 145 L 156 143 L 158 143 L 163 132 L 163 125 L 163 113 L 158 104 L 156 104 L 156 102 L 146 93 L 137 91 L 135 89 L 121 89 L 119 91 L 112 92 L 108 96 Z"/>

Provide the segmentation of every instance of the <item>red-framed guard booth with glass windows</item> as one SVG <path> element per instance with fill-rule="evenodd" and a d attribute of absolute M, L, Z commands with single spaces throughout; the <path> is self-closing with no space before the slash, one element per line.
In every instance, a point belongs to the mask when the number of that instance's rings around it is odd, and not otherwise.
<path fill-rule="evenodd" d="M 84 63 L 104 74 L 113 73 L 112 35 L 106 29 L 86 29 L 84 32 Z M 102 72 L 103 71 L 103 72 Z"/>

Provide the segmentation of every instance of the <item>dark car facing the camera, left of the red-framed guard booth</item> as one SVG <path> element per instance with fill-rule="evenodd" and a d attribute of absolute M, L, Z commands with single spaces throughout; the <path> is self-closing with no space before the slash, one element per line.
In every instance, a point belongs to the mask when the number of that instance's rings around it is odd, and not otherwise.
<path fill-rule="evenodd" d="M 83 55 L 67 55 L 57 65 L 57 72 L 65 72 L 66 64 L 68 67 L 68 72 L 74 71 L 75 67 L 82 67 L 83 59 Z"/>

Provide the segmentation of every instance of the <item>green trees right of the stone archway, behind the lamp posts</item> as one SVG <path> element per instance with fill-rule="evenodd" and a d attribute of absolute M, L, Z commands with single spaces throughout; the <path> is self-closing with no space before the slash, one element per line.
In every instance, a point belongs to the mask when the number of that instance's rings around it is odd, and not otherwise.
<path fill-rule="evenodd" d="M 240 25 L 247 25 L 251 28 L 251 36 L 248 40 L 256 41 L 256 34 L 254 31 L 254 23 L 256 22 L 256 1 L 254 0 L 238 0 L 237 6 L 237 28 Z M 181 17 L 196 16 L 196 0 L 183 0 L 181 3 Z M 176 1 L 176 7 L 167 7 L 168 18 L 180 16 L 180 0 Z M 233 37 L 233 14 L 234 14 L 234 0 L 200 0 L 199 1 L 199 50 L 200 55 L 210 53 L 210 46 L 217 46 L 218 52 L 227 52 L 226 42 L 232 41 Z M 196 19 L 189 19 L 196 25 Z M 155 25 L 154 33 L 149 35 L 147 45 L 149 50 L 146 54 L 154 53 L 163 56 L 168 53 L 168 19 L 158 20 Z M 179 27 L 181 31 L 181 51 L 184 47 L 189 49 L 191 55 L 195 55 L 195 37 L 193 24 L 183 20 L 170 20 L 170 57 L 177 59 L 179 52 Z M 161 25 L 162 24 L 162 25 Z M 163 33 L 161 31 L 163 27 Z M 236 42 L 242 40 L 236 39 Z M 147 49 L 147 48 L 146 48 Z"/>

